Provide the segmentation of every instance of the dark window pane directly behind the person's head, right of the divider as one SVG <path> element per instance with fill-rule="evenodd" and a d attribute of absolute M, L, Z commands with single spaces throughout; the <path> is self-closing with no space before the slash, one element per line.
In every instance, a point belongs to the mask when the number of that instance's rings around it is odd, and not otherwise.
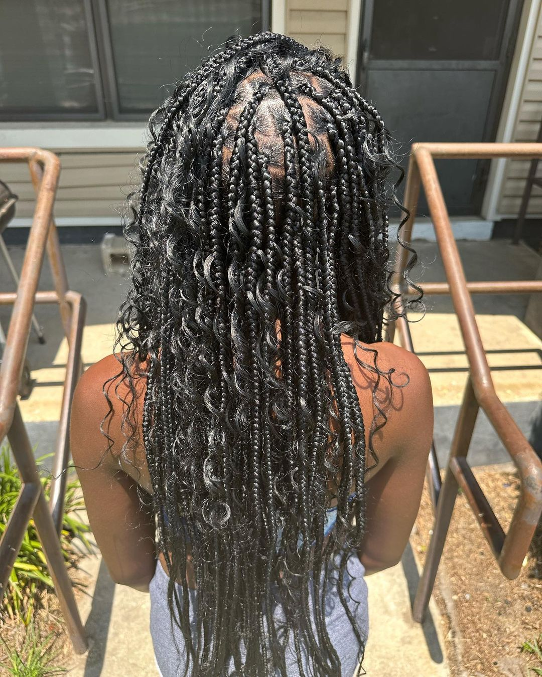
<path fill-rule="evenodd" d="M 260 30 L 259 0 L 108 0 L 122 113 L 148 113 L 213 47 Z"/>

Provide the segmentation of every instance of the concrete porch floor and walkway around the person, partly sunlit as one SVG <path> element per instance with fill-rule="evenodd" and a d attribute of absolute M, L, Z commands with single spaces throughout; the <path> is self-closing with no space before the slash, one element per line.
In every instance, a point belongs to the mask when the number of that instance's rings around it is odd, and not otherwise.
<path fill-rule="evenodd" d="M 467 277 L 471 280 L 533 278 L 538 257 L 526 247 L 505 242 L 461 242 Z M 442 280 L 436 246 L 416 243 L 425 271 L 423 279 Z M 22 248 L 12 247 L 20 269 Z M 119 276 L 106 277 L 100 252 L 93 245 L 63 247 L 70 286 L 87 299 L 87 326 L 83 359 L 89 365 L 107 355 L 112 346 L 112 323 L 125 282 Z M 483 265 L 480 264 L 483 262 Z M 41 288 L 51 288 L 45 264 Z M 5 267 L 0 268 L 0 289 L 13 288 Z M 476 297 L 480 331 L 488 349 L 497 391 L 516 416 L 520 427 L 531 435 L 537 414 L 542 374 L 542 341 L 521 319 L 524 297 Z M 36 379 L 35 389 L 21 402 L 23 416 L 37 454 L 54 448 L 56 420 L 66 364 L 66 342 L 62 339 L 56 307 L 39 307 L 37 316 L 45 328 L 47 343 L 39 345 L 30 336 L 28 360 Z M 0 307 L 5 328 L 9 312 Z M 413 324 L 415 347 L 430 370 L 436 406 L 436 441 L 444 458 L 451 440 L 457 407 L 467 374 L 465 355 L 449 299 L 428 300 L 428 315 Z M 502 447 L 491 437 L 490 427 L 480 420 L 472 462 L 480 464 L 506 460 Z M 95 590 L 93 598 L 81 600 L 81 613 L 91 638 L 91 649 L 77 659 L 70 674 L 81 677 L 114 677 L 119 674 L 154 675 L 152 646 L 148 635 L 148 596 L 115 586 L 99 557 L 88 559 Z M 402 562 L 388 571 L 368 578 L 371 630 L 365 668 L 369 676 L 439 676 L 449 674 L 442 654 L 440 619 L 434 607 L 424 626 L 413 623 L 410 603 L 417 580 L 417 568 L 410 548 Z"/>

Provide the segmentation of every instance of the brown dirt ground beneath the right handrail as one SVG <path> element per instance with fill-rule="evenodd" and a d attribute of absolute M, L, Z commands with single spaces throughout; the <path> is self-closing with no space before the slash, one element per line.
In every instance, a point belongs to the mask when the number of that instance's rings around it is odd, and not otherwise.
<path fill-rule="evenodd" d="M 474 475 L 506 531 L 519 496 L 518 476 L 511 466 L 475 468 Z M 433 527 L 433 510 L 427 487 L 423 492 L 411 543 L 421 563 Z M 457 497 L 442 568 L 438 573 L 436 601 L 446 612 L 453 605 L 455 676 L 527 677 L 540 661 L 521 647 L 542 632 L 542 528 L 539 525 L 518 578 L 507 580 L 499 570 L 482 531 L 463 495 Z"/>

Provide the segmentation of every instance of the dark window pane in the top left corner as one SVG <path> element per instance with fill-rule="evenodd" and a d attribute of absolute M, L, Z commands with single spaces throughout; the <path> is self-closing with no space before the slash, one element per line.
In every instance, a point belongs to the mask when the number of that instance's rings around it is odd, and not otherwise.
<path fill-rule="evenodd" d="M 83 0 L 1 0 L 0 114 L 97 114 Z"/>

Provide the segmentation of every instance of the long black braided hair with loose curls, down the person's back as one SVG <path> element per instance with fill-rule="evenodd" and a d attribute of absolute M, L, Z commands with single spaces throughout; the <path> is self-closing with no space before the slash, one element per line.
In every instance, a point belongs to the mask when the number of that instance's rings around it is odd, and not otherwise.
<path fill-rule="evenodd" d="M 270 32 L 228 41 L 149 129 L 117 345 L 131 392 L 146 383 L 131 435 L 146 450 L 172 622 L 194 676 L 228 663 L 285 675 L 293 634 L 299 674 L 306 647 L 308 674 L 335 677 L 326 596 L 335 586 L 362 659 L 343 577 L 364 535 L 366 456 L 377 462 L 341 334 L 391 383 L 366 345 L 396 311 L 390 135 L 339 59 Z"/>

